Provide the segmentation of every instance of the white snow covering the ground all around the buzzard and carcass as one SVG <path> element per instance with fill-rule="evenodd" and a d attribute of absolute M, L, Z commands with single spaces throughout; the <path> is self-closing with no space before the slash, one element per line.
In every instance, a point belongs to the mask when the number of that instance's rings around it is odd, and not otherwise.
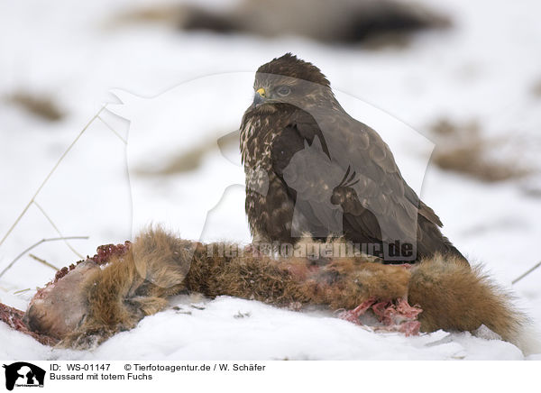
<path fill-rule="evenodd" d="M 242 183 L 242 177 L 237 181 L 234 151 L 225 160 L 217 148 L 211 149 L 196 170 L 176 175 L 141 172 L 163 168 L 179 152 L 233 132 L 251 101 L 252 83 L 249 78 L 242 86 L 222 82 L 230 73 L 243 79 L 246 72 L 287 51 L 322 69 L 347 102 L 344 107 L 385 134 L 403 165 L 424 165 L 427 151 L 399 131 L 378 128 L 385 123 L 381 114 L 389 114 L 390 123 L 408 124 L 404 130 L 426 136 L 429 125 L 441 118 L 475 120 L 484 135 L 511 137 L 513 145 L 496 154 L 516 154 L 539 167 L 541 97 L 533 94 L 541 83 L 539 3 L 424 2 L 451 14 L 454 28 L 420 34 L 404 50 L 108 23 L 116 13 L 150 0 L 3 2 L 0 96 L 16 91 L 49 94 L 67 115 L 48 123 L 7 101 L 0 105 L 0 237 L 84 125 L 104 102 L 115 101 L 111 89 L 152 97 L 173 87 L 181 91 L 190 80 L 198 86 L 197 81 L 217 79 L 207 84 L 206 105 L 189 110 L 187 123 L 172 122 L 174 116 L 156 119 L 151 110 L 132 124 L 104 114 L 121 138 L 99 119 L 91 123 L 42 188 L 38 205 L 29 208 L 0 245 L 0 270 L 34 242 L 58 236 L 39 206 L 63 235 L 89 236 L 70 241 L 81 255 L 93 255 L 98 244 L 124 242 L 151 224 L 150 219 L 165 220 L 160 217 L 170 217 L 167 226 L 184 237 L 248 242 L 243 187 L 227 188 L 220 201 L 225 187 Z M 220 77 L 224 75 L 229 77 Z M 352 96 L 359 100 L 348 98 Z M 110 107 L 122 114 L 122 106 Z M 124 107 L 130 106 L 124 101 Z M 132 111 L 137 112 L 135 107 Z M 128 140 L 127 150 L 122 139 Z M 540 189 L 539 176 L 484 184 L 429 166 L 421 197 L 442 218 L 445 234 L 457 247 L 509 288 L 512 279 L 541 260 Z M 43 243 L 32 253 L 58 267 L 79 259 L 63 242 Z M 0 278 L 0 302 L 25 309 L 35 288 L 53 274 L 24 256 Z M 512 288 L 537 328 L 540 282 L 541 270 L 536 270 Z M 24 289 L 30 290 L 19 292 Z M 541 359 L 541 354 L 524 356 L 514 345 L 491 340 L 486 333 L 436 332 L 412 338 L 374 334 L 332 315 L 295 313 L 231 297 L 176 297 L 171 304 L 180 306 L 180 312 L 169 309 L 147 317 L 93 352 L 51 350 L 0 324 L 0 358 Z M 235 318 L 239 313 L 244 317 Z"/>

